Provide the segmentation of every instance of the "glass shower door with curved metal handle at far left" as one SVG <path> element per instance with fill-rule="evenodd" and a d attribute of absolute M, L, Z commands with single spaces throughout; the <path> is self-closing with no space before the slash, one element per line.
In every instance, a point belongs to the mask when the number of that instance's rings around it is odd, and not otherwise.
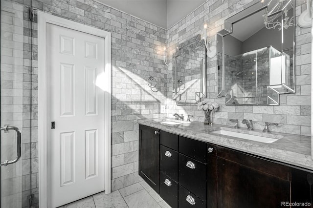
<path fill-rule="evenodd" d="M 1 208 L 22 208 L 29 207 L 28 198 L 36 186 L 36 174 L 31 171 L 34 154 L 31 143 L 32 22 L 27 17 L 28 5 L 14 0 L 1 0 L 0 3 L 0 200 Z"/>

